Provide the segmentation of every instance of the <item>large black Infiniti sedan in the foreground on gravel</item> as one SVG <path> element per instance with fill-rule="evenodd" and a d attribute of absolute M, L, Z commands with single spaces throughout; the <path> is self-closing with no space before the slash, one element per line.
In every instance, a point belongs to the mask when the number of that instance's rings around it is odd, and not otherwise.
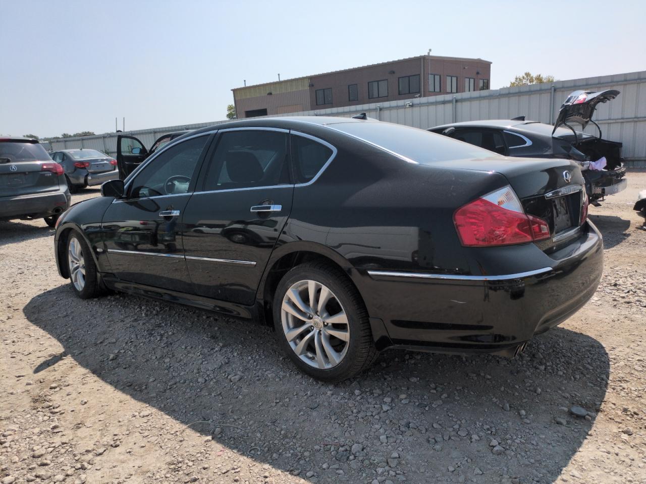
<path fill-rule="evenodd" d="M 370 119 L 175 139 L 59 220 L 61 276 L 273 325 L 340 381 L 386 348 L 514 356 L 596 290 L 581 170 Z"/>

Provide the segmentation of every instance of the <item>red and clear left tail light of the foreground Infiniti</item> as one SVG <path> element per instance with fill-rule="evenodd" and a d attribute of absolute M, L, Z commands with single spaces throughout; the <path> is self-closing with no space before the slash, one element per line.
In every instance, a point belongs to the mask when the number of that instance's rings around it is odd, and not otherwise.
<path fill-rule="evenodd" d="M 465 247 L 523 244 L 550 237 L 547 222 L 525 214 L 509 186 L 458 208 L 453 223 Z"/>

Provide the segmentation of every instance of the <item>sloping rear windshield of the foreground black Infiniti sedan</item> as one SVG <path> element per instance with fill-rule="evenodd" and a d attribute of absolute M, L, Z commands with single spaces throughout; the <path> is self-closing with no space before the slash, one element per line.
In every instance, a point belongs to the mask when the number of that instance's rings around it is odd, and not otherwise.
<path fill-rule="evenodd" d="M 337 123 L 328 126 L 370 141 L 418 163 L 500 156 L 441 134 L 392 123 Z"/>

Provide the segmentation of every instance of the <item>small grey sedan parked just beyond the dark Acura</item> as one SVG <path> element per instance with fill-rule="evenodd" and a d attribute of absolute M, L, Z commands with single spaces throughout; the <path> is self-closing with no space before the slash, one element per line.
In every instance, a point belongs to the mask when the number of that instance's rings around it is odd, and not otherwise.
<path fill-rule="evenodd" d="M 97 150 L 61 150 L 52 153 L 52 159 L 63 166 L 70 192 L 101 185 L 119 178 L 117 161 Z"/>

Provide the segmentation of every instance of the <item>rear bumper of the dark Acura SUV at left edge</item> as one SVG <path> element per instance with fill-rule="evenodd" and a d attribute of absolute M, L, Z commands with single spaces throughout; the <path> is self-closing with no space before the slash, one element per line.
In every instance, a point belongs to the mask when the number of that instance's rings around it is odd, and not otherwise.
<path fill-rule="evenodd" d="M 59 214 L 70 206 L 70 192 L 64 189 L 13 197 L 0 197 L 0 220 L 31 219 Z"/>

